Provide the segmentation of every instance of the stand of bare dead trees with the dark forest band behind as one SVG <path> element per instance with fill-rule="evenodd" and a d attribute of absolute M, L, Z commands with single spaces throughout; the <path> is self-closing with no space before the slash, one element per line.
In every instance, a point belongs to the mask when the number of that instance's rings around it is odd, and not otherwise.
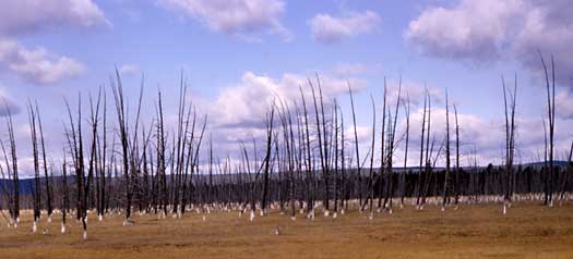
<path fill-rule="evenodd" d="M 194 211 L 205 219 L 212 210 L 224 210 L 238 211 L 241 217 L 249 212 L 253 221 L 256 211 L 265 215 L 271 210 L 293 219 L 298 212 L 311 220 L 315 210 L 333 218 L 357 210 L 368 211 L 371 219 L 374 210 L 392 213 L 395 203 L 411 203 L 417 209 L 430 203 L 445 210 L 459 203 L 503 202 L 503 213 L 513 200 L 542 200 L 552 206 L 556 200 L 571 198 L 573 145 L 566 162 L 557 164 L 554 69 L 552 59 L 550 70 L 542 58 L 541 63 L 548 100 L 544 158 L 535 166 L 514 163 L 517 79 L 510 87 L 502 78 L 505 153 L 503 165 L 487 168 L 478 166 L 475 148 L 473 153 L 461 150 L 464 139 L 459 131 L 464 125 L 459 124 L 457 107 L 450 103 L 447 90 L 445 122 L 435 120 L 437 104 L 428 89 L 421 121 L 414 121 L 410 97 L 402 90 L 402 79 L 396 96 L 391 95 L 384 79 L 382 97 L 370 98 L 371 132 L 363 144 L 358 137 L 351 86 L 351 118 L 345 118 L 339 100 L 323 92 L 317 75 L 299 87 L 299 97 L 277 96 L 266 103 L 261 136 L 242 139 L 235 153 L 220 156 L 214 151 L 212 133 L 207 132 L 207 115 L 200 114 L 191 103 L 183 79 L 177 96 L 177 121 L 166 125 L 162 91 L 157 91 L 153 103 L 143 103 L 142 84 L 140 94 L 130 102 L 117 72 L 110 86 L 102 87 L 97 95 L 80 95 L 75 108 L 65 101 L 65 138 L 59 160 L 47 159 L 53 156 L 46 151 L 40 109 L 29 102 L 32 184 L 20 184 L 19 153 L 9 112 L 8 140 L 0 141 L 0 176 L 4 178 L 0 206 L 8 210 L 8 214 L 1 210 L 2 215 L 17 226 L 20 210 L 31 208 L 36 231 L 43 213 L 50 222 L 57 212 L 62 233 L 67 218 L 73 217 L 82 223 L 85 239 L 89 213 L 96 213 L 99 221 L 109 213 L 122 213 L 123 224 L 131 225 L 134 213 L 180 218 Z M 142 107 L 150 104 L 155 113 L 144 118 Z M 401 122 L 404 125 L 398 127 Z M 418 123 L 419 132 L 413 132 L 410 125 Z M 413 141 L 413 136 L 420 138 Z M 399 158 L 397 150 L 403 151 Z M 416 161 L 408 161 L 413 156 Z M 471 161 L 469 165 L 461 165 L 462 156 Z M 397 163 L 401 159 L 403 164 Z"/>

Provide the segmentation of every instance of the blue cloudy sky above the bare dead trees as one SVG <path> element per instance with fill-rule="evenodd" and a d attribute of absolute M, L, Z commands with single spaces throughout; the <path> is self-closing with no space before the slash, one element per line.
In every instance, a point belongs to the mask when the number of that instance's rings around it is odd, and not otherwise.
<path fill-rule="evenodd" d="M 16 127 L 19 159 L 31 170 L 28 101 L 40 108 L 49 157 L 61 158 L 64 100 L 121 75 L 130 111 L 145 87 L 143 114 L 155 114 L 157 90 L 175 123 L 181 77 L 189 98 L 208 115 L 218 156 L 238 156 L 238 140 L 260 137 L 275 97 L 294 101 L 299 86 L 320 78 L 350 118 L 347 84 L 356 91 L 357 130 L 366 153 L 372 109 L 380 113 L 384 79 L 395 100 L 411 101 L 421 122 L 425 87 L 432 96 L 433 137 L 443 138 L 445 91 L 459 113 L 463 163 L 503 155 L 502 77 L 517 78 L 517 161 L 544 150 L 545 82 L 540 55 L 554 58 L 556 152 L 569 151 L 573 126 L 573 4 L 569 0 L 3 0 L 0 1 L 0 116 Z M 112 109 L 108 109 L 112 111 Z M 109 114 L 109 116 L 115 114 Z M 4 121 L 4 120 L 2 120 Z M 349 121 L 349 120 L 348 120 Z M 0 138 L 5 141 L 5 125 Z M 401 111 L 398 132 L 404 131 Z M 353 127 L 346 128 L 351 132 Z M 380 131 L 380 128 L 378 128 Z M 418 135 L 414 134 L 413 135 Z M 416 146 L 417 136 L 413 136 Z M 403 147 L 396 161 L 403 163 Z M 413 147 L 415 149 L 415 147 Z M 408 156 L 415 164 L 417 153 Z"/>

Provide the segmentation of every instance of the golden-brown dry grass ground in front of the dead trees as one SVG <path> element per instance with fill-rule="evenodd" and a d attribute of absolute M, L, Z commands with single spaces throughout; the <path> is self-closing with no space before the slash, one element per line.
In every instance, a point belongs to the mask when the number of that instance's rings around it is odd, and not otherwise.
<path fill-rule="evenodd" d="M 373 220 L 357 212 L 313 222 L 297 217 L 274 212 L 250 222 L 248 214 L 213 212 L 203 222 L 196 213 L 145 215 L 131 226 L 122 226 L 121 215 L 92 217 L 87 242 L 75 221 L 61 235 L 59 221 L 44 219 L 33 234 L 23 219 L 17 230 L 0 226 L 0 258 L 573 258 L 573 205 L 517 203 L 506 215 L 487 205 L 445 212 L 396 208 Z"/>

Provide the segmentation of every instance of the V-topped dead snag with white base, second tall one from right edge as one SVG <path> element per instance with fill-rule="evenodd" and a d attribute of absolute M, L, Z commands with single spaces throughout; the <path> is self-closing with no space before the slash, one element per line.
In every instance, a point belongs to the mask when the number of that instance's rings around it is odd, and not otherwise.
<path fill-rule="evenodd" d="M 517 95 L 517 77 L 515 77 L 515 85 L 513 91 L 505 87 L 505 81 L 501 77 L 503 86 L 503 104 L 505 112 L 505 173 L 503 176 L 503 214 L 511 206 L 511 178 L 513 175 L 513 156 L 515 152 L 515 100 Z M 509 103 L 508 103 L 509 95 Z"/>

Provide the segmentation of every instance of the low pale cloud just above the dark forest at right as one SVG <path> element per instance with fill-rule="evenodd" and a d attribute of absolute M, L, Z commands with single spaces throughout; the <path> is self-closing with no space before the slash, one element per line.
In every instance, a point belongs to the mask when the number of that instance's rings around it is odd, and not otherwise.
<path fill-rule="evenodd" d="M 410 135 L 409 145 L 411 147 L 418 147 L 411 149 L 413 153 L 408 156 L 408 164 L 416 165 L 419 161 L 419 145 L 420 145 L 420 131 L 422 121 L 422 109 L 414 111 L 410 115 Z M 504 121 L 501 119 L 485 119 L 470 113 L 459 112 L 458 125 L 459 125 L 459 143 L 461 143 L 461 163 L 469 165 L 476 152 L 478 164 L 485 165 L 487 163 L 500 164 L 503 162 L 504 156 Z M 430 143 L 433 141 L 434 153 L 437 155 L 438 149 L 444 145 L 445 141 L 445 109 L 434 108 L 431 110 L 431 134 Z M 561 125 L 561 121 L 558 122 Z M 406 127 L 405 118 L 401 119 L 398 124 L 398 132 L 403 134 Z M 540 119 L 535 118 L 516 118 L 516 147 L 517 147 L 517 160 L 518 162 L 534 161 L 538 150 L 542 150 L 544 147 L 544 132 L 539 131 L 542 127 Z M 455 141 L 455 118 L 453 109 L 450 109 L 450 137 L 452 140 L 452 147 L 454 148 Z M 566 143 L 569 136 L 561 134 L 556 136 L 556 139 L 560 139 L 558 143 L 565 144 L 557 147 L 557 151 L 561 152 L 566 150 Z M 443 148 L 443 147 L 442 147 Z M 404 149 L 404 141 L 398 147 L 398 153 Z M 403 163 L 403 152 L 397 155 L 397 160 Z M 445 155 L 442 150 L 441 157 L 438 160 L 439 165 L 443 165 L 445 161 Z"/>

